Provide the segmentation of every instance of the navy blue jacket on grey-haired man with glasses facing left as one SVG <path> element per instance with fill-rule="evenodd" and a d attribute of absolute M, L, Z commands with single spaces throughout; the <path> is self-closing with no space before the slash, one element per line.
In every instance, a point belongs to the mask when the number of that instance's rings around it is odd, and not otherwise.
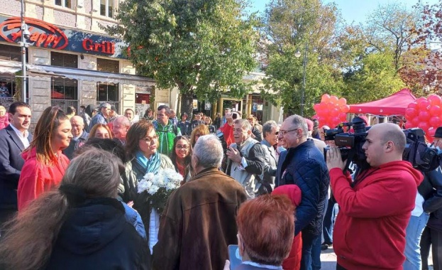
<path fill-rule="evenodd" d="M 303 234 L 321 234 L 330 184 L 323 153 L 312 140 L 307 140 L 296 148 L 288 149 L 284 161 L 278 163 L 277 173 L 280 175 L 277 175 L 276 187 L 295 184 L 302 191 L 294 223 L 295 235 L 300 231 Z"/>

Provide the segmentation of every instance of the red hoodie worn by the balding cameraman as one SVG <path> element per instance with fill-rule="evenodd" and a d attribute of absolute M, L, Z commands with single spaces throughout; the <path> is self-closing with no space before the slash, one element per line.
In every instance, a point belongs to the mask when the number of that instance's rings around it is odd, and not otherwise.
<path fill-rule="evenodd" d="M 359 180 L 362 179 L 362 180 Z M 424 176 L 407 161 L 370 168 L 352 188 L 350 175 L 330 171 L 340 207 L 333 249 L 345 269 L 402 269 L 405 229 Z"/>

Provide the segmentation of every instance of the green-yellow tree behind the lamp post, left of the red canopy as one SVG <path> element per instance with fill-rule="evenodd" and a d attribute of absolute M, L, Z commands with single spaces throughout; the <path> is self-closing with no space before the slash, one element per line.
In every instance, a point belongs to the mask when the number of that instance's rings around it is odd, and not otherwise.
<path fill-rule="evenodd" d="M 263 95 L 282 104 L 285 113 L 301 111 L 302 91 L 304 112 L 309 116 L 324 92 L 339 91 L 341 74 L 328 61 L 337 19 L 336 7 L 319 0 L 272 0 L 267 5 L 262 18 L 263 39 L 267 42 L 261 53 L 268 63 Z M 298 50 L 308 55 L 305 89 L 303 57 L 295 57 Z"/>

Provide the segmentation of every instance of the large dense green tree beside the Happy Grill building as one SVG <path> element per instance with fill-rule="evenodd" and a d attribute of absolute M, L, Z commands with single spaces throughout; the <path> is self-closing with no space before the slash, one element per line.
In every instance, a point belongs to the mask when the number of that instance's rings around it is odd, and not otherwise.
<path fill-rule="evenodd" d="M 258 21 L 244 8 L 242 0 L 126 0 L 106 31 L 128 43 L 139 74 L 177 86 L 191 114 L 194 95 L 214 102 L 224 91 L 239 98 L 250 90 L 243 76 L 257 66 Z"/>

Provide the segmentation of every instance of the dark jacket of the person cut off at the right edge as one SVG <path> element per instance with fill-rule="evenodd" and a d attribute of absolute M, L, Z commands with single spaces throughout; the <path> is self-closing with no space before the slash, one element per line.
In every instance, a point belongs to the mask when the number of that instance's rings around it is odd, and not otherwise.
<path fill-rule="evenodd" d="M 431 229 L 442 231 L 442 170 L 424 173 L 424 181 L 419 185 L 419 193 L 424 197 L 424 211 L 430 213 L 426 224 Z"/>

